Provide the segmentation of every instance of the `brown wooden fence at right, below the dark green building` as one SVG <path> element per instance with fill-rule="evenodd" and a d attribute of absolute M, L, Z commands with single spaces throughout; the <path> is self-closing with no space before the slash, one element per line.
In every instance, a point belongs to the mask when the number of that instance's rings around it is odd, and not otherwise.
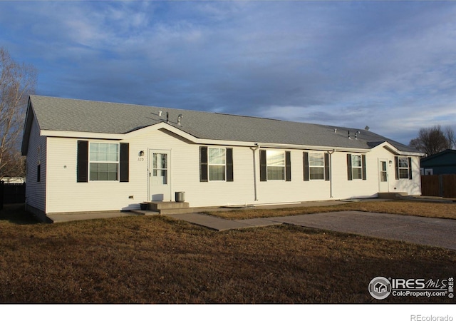
<path fill-rule="evenodd" d="M 422 175 L 421 194 L 456 198 L 456 174 Z"/>

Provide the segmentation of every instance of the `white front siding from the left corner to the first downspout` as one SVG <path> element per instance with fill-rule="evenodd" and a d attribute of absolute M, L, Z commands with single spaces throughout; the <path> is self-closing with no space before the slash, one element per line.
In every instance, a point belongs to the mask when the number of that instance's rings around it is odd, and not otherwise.
<path fill-rule="evenodd" d="M 252 203 L 254 200 L 253 161 L 249 148 L 233 148 L 234 182 L 199 182 L 199 146 L 182 141 L 171 133 L 152 131 L 135 136 L 130 143 L 128 183 L 76 183 L 76 138 L 48 138 L 48 205 L 46 213 L 139 208 L 148 200 L 148 151 L 170 150 L 172 199 L 177 191 L 194 206 Z M 139 157 L 144 151 L 145 156 Z M 133 195 L 133 199 L 129 196 Z"/>

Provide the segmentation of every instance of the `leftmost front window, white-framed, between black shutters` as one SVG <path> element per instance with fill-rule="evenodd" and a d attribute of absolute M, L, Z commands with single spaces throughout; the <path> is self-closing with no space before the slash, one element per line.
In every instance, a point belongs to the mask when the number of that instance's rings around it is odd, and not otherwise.
<path fill-rule="evenodd" d="M 119 144 L 90 143 L 89 148 L 89 179 L 119 179 Z"/>

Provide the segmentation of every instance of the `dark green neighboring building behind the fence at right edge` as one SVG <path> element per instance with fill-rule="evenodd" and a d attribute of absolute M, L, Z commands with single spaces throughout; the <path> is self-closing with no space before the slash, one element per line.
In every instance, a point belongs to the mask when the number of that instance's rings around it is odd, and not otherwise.
<path fill-rule="evenodd" d="M 421 175 L 456 174 L 456 150 L 447 149 L 421 159 Z"/>

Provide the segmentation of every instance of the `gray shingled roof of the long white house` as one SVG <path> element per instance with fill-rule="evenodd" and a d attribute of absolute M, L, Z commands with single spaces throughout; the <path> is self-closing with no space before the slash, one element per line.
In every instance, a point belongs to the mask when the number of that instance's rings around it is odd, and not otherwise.
<path fill-rule="evenodd" d="M 30 101 L 39 127 L 48 131 L 129 133 L 166 121 L 166 113 L 169 113 L 171 126 L 203 139 L 337 148 L 373 148 L 388 141 L 399 151 L 417 152 L 358 128 L 46 96 L 30 96 Z M 162 111 L 161 117 L 159 111 Z M 177 125 L 179 114 L 183 116 L 182 126 Z M 337 128 L 337 133 L 334 133 L 334 128 Z M 352 139 L 348 139 L 348 131 Z M 356 131 L 361 132 L 358 140 L 354 139 Z"/>

